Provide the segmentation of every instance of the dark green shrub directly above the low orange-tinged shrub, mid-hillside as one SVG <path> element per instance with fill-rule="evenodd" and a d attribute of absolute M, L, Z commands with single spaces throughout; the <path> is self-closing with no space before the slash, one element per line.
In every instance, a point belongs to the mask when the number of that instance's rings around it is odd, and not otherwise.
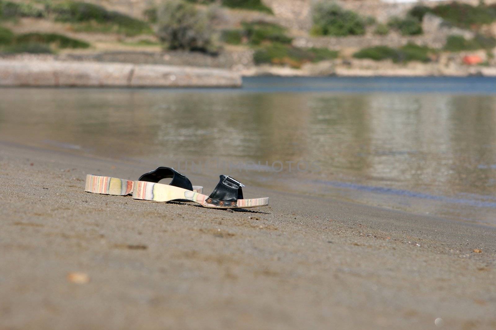
<path fill-rule="evenodd" d="M 260 45 L 262 42 L 290 44 L 292 39 L 285 35 L 286 29 L 267 22 L 242 23 L 245 36 L 251 45 Z"/>

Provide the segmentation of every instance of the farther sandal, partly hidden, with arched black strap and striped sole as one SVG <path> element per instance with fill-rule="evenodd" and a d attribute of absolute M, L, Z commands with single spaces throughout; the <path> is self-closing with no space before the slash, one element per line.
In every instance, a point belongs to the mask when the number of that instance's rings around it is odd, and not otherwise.
<path fill-rule="evenodd" d="M 166 178 L 172 178 L 172 181 L 169 183 L 171 186 L 196 193 L 203 191 L 203 187 L 192 186 L 184 174 L 179 173 L 172 167 L 157 167 L 156 170 L 143 174 L 138 180 L 140 182 L 158 183 L 160 180 Z M 125 196 L 133 192 L 135 182 L 137 181 L 87 174 L 84 191 Z"/>

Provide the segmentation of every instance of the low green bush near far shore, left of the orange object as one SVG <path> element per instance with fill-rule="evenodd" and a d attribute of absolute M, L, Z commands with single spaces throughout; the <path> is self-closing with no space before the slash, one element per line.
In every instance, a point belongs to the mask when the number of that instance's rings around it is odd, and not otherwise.
<path fill-rule="evenodd" d="M 370 58 L 374 61 L 391 59 L 393 62 L 421 61 L 428 62 L 432 49 L 415 44 L 407 44 L 398 49 L 387 46 L 364 48 L 353 54 L 355 58 Z"/>

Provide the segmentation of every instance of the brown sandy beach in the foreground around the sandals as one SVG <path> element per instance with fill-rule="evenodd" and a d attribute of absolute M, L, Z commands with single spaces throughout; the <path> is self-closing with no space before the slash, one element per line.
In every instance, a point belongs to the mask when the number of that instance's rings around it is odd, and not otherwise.
<path fill-rule="evenodd" d="M 0 142 L 0 329 L 496 328 L 494 228 L 249 186 L 270 207 L 83 191 L 147 170 Z"/>

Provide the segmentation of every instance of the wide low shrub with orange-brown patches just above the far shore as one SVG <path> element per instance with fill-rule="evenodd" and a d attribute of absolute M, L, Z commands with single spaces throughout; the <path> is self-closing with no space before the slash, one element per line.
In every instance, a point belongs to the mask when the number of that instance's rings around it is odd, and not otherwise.
<path fill-rule="evenodd" d="M 256 64 L 289 65 L 299 68 L 306 62 L 318 62 L 337 57 L 337 51 L 327 48 L 299 48 L 283 44 L 272 44 L 258 48 L 253 54 Z"/>

